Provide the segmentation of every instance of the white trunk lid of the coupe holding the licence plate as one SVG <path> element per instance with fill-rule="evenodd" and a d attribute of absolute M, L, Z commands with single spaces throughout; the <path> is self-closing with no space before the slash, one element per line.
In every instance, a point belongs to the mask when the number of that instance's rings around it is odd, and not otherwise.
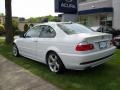
<path fill-rule="evenodd" d="M 82 34 L 72 35 L 72 37 L 74 39 L 76 39 L 76 44 L 88 43 L 88 44 L 93 44 L 94 45 L 93 50 L 83 51 L 82 53 L 105 50 L 107 48 L 110 48 L 111 44 L 112 44 L 111 43 L 112 35 L 111 34 L 106 34 L 106 33 L 99 33 L 99 32 L 82 33 Z"/>

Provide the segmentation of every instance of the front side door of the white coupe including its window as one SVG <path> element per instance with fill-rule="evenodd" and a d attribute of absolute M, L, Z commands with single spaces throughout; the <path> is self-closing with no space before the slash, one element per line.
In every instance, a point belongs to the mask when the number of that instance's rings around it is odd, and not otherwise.
<path fill-rule="evenodd" d="M 31 59 L 36 59 L 36 49 L 37 49 L 37 40 L 40 36 L 40 30 L 38 27 L 33 27 L 25 34 L 20 42 L 21 53 L 23 56 L 26 56 Z"/>

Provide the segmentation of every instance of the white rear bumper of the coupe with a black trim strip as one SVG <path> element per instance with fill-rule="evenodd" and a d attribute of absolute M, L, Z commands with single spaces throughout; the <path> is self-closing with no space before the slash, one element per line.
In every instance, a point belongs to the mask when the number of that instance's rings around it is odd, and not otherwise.
<path fill-rule="evenodd" d="M 116 48 L 112 47 L 106 50 L 89 53 L 89 54 L 64 54 L 59 53 L 67 69 L 84 70 L 88 67 L 95 67 L 110 60 Z"/>

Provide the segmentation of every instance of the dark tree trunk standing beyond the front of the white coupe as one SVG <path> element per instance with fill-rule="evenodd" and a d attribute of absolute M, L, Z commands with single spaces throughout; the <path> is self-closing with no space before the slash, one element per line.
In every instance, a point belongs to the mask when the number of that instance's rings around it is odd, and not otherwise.
<path fill-rule="evenodd" d="M 12 44 L 13 42 L 13 30 L 12 30 L 12 10 L 11 0 L 5 0 L 5 30 L 6 30 L 6 43 Z"/>

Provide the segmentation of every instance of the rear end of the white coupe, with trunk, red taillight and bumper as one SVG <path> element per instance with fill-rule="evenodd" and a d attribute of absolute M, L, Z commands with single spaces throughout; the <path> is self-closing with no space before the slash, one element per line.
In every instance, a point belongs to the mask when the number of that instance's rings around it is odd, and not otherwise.
<path fill-rule="evenodd" d="M 73 34 L 74 39 L 71 52 L 59 53 L 67 69 L 84 70 L 92 68 L 110 60 L 116 47 L 112 44 L 112 35 L 89 32 Z"/>

